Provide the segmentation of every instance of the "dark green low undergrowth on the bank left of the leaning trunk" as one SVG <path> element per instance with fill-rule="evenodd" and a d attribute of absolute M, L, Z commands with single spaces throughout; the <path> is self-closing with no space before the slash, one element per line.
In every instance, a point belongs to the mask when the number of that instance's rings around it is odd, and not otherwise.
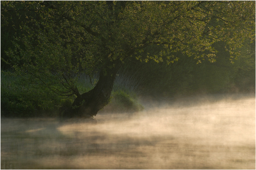
<path fill-rule="evenodd" d="M 29 88 L 20 79 L 1 72 L 1 116 L 35 117 L 56 116 L 57 108 L 64 102 L 49 89 Z"/>

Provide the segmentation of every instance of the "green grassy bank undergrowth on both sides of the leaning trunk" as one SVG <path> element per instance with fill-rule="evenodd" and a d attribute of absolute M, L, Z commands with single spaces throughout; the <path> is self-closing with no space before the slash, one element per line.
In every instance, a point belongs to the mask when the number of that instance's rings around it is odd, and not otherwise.
<path fill-rule="evenodd" d="M 144 107 L 137 101 L 139 82 L 131 81 L 131 75 L 117 76 L 104 111 L 141 111 Z M 94 78 L 97 81 L 97 77 Z M 78 85 L 81 93 L 94 86 L 86 76 L 80 76 Z M 1 117 L 58 117 L 61 107 L 70 107 L 75 96 L 63 98 L 47 88 L 31 88 L 20 84 L 18 77 L 1 72 Z M 111 109 L 110 109 L 111 108 Z"/>

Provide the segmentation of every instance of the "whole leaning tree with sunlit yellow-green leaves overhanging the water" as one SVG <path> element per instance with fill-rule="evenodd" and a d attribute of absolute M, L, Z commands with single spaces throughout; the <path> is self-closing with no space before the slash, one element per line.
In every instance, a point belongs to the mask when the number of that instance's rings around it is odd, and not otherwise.
<path fill-rule="evenodd" d="M 1 1 L 2 27 L 15 30 L 3 61 L 35 88 L 76 95 L 65 115 L 92 117 L 129 58 L 169 64 L 182 53 L 214 62 L 213 43 L 236 57 L 255 39 L 255 1 Z M 80 94 L 77 77 L 95 72 L 95 87 Z"/>

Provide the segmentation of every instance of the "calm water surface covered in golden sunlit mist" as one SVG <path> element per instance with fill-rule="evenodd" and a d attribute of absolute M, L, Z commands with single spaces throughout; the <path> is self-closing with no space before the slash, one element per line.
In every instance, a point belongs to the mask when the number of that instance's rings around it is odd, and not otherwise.
<path fill-rule="evenodd" d="M 94 120 L 1 119 L 1 169 L 255 169 L 255 94 L 148 101 Z"/>

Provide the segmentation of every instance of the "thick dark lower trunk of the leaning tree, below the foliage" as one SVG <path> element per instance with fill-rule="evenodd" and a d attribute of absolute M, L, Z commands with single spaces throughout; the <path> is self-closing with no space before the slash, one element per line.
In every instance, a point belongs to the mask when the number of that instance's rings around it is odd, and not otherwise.
<path fill-rule="evenodd" d="M 96 86 L 92 90 L 78 95 L 71 108 L 64 111 L 63 117 L 96 116 L 98 111 L 109 103 L 115 77 L 120 66 L 120 63 L 115 63 L 112 68 L 109 66 L 102 69 Z"/>

